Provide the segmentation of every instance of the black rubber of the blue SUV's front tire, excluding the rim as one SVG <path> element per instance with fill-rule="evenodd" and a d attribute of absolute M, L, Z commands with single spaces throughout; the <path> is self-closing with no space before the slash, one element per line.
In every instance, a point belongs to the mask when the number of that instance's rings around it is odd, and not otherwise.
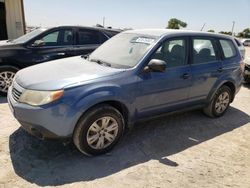
<path fill-rule="evenodd" d="M 102 117 L 111 117 L 118 124 L 118 133 L 113 142 L 104 149 L 94 149 L 87 142 L 87 134 L 90 126 Z M 124 132 L 124 118 L 122 114 L 110 105 L 98 105 L 88 110 L 78 121 L 73 134 L 73 142 L 80 152 L 86 155 L 100 155 L 111 150 L 119 141 Z"/>

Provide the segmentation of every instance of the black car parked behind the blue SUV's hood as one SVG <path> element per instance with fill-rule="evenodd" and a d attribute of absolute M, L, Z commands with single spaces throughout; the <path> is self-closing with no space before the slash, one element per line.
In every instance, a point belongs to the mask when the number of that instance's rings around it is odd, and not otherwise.
<path fill-rule="evenodd" d="M 40 28 L 0 43 L 0 95 L 6 95 L 15 73 L 38 63 L 84 55 L 119 31 L 94 27 Z"/>

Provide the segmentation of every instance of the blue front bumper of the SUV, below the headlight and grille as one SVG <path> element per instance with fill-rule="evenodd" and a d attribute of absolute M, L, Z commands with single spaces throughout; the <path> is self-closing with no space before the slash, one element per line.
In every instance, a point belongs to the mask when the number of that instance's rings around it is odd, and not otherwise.
<path fill-rule="evenodd" d="M 62 102 L 35 107 L 17 102 L 12 96 L 12 87 L 8 92 L 8 104 L 14 117 L 30 134 L 40 139 L 68 139 L 72 137 L 75 117 L 70 107 Z"/>

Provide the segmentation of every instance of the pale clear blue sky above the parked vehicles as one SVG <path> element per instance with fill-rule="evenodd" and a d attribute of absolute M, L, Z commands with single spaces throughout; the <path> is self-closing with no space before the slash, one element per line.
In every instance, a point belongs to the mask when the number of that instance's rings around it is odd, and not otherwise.
<path fill-rule="evenodd" d="M 190 30 L 234 32 L 250 28 L 250 0 L 23 0 L 28 26 L 165 28 L 170 18 Z"/>

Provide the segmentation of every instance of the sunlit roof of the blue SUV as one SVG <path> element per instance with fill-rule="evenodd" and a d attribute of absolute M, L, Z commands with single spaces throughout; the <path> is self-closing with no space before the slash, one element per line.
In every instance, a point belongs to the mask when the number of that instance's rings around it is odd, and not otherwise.
<path fill-rule="evenodd" d="M 162 37 L 167 35 L 176 35 L 176 36 L 188 35 L 188 36 L 208 36 L 208 37 L 220 37 L 220 38 L 232 39 L 231 36 L 223 34 L 215 34 L 215 33 L 192 31 L 192 30 L 179 30 L 179 29 L 136 29 L 136 30 L 125 31 L 125 33 L 135 33 L 135 34 L 149 35 L 155 37 Z"/>

